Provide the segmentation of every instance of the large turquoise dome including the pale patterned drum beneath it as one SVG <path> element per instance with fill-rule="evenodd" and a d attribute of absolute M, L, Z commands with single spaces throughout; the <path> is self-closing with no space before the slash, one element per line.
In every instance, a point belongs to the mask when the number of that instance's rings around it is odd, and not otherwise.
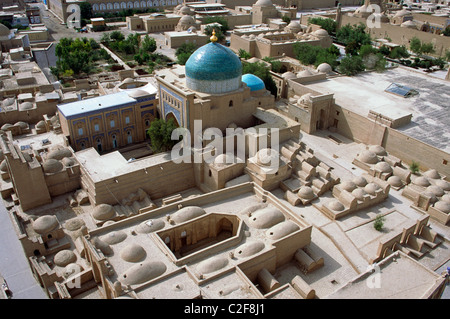
<path fill-rule="evenodd" d="M 229 48 L 210 42 L 186 62 L 187 87 L 203 93 L 226 93 L 241 86 L 242 63 Z"/>

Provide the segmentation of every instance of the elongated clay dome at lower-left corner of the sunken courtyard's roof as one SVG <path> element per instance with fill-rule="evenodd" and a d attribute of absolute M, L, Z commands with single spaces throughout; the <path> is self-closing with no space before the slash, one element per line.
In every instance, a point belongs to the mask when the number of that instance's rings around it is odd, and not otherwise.
<path fill-rule="evenodd" d="M 166 269 L 161 261 L 145 261 L 127 269 L 119 280 L 124 285 L 138 285 L 162 275 Z"/>

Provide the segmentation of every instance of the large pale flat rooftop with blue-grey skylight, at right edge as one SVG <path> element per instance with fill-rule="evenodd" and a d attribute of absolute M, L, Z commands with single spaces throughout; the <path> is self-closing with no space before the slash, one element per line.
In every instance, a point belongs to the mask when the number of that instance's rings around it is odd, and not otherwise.
<path fill-rule="evenodd" d="M 392 83 L 415 89 L 416 96 L 385 92 Z M 413 138 L 450 152 L 450 82 L 405 68 L 335 77 L 305 84 L 320 93 L 333 93 L 336 103 L 363 116 L 369 110 L 382 114 L 411 113 L 411 123 L 397 128 Z"/>

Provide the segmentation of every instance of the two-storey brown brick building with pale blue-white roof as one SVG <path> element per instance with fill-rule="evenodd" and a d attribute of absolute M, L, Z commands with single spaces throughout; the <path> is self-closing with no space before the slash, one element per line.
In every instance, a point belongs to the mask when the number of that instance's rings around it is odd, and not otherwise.
<path fill-rule="evenodd" d="M 136 88 L 130 78 L 121 87 L 117 93 L 58 105 L 63 134 L 75 151 L 94 147 L 102 153 L 145 140 L 156 117 L 156 88 Z"/>

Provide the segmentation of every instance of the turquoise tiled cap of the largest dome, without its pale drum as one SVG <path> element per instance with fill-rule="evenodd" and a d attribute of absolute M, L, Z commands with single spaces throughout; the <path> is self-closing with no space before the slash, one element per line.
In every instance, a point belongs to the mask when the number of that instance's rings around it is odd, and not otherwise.
<path fill-rule="evenodd" d="M 229 48 L 210 42 L 198 48 L 186 62 L 186 77 L 201 81 L 230 80 L 242 75 L 242 63 Z"/>

